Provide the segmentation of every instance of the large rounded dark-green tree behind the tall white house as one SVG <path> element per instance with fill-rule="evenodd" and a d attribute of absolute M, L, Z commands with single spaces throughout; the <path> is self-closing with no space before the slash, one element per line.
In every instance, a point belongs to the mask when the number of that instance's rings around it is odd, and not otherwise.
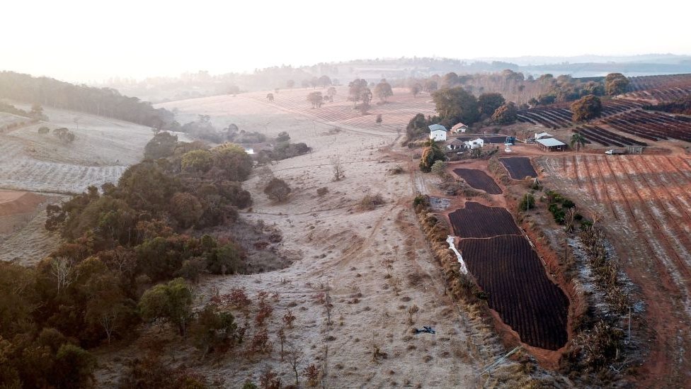
<path fill-rule="evenodd" d="M 437 112 L 447 124 L 472 124 L 478 120 L 477 98 L 469 94 L 462 86 L 439 89 L 432 94 Z"/>

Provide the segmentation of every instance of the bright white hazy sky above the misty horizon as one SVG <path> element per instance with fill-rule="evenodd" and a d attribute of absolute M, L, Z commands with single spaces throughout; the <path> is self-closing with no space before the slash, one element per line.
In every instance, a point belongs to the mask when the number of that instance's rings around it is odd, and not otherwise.
<path fill-rule="evenodd" d="M 691 2 L 6 0 L 0 69 L 68 81 L 376 57 L 691 55 Z"/>

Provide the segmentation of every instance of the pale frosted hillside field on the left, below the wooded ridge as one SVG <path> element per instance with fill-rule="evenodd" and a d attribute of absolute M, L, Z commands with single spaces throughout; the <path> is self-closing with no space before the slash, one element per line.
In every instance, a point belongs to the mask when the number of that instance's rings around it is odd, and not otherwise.
<path fill-rule="evenodd" d="M 141 125 L 50 108 L 45 113 L 47 123 L 0 134 L 1 188 L 75 193 L 116 182 L 127 165 L 142 159 L 152 137 Z M 38 134 L 44 125 L 69 128 L 76 140 L 65 145 L 52 133 Z"/>

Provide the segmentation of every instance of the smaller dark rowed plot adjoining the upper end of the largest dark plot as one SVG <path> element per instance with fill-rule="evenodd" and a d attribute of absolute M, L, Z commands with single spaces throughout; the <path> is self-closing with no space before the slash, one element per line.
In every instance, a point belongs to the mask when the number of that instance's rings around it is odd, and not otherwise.
<path fill-rule="evenodd" d="M 454 234 L 458 237 L 484 238 L 498 235 L 520 235 L 520 230 L 505 208 L 487 207 L 480 203 L 465 203 L 449 214 Z"/>

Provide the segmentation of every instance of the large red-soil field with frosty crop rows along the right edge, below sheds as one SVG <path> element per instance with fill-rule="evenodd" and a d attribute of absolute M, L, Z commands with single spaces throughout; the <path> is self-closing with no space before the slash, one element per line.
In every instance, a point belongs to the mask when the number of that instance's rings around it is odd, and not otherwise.
<path fill-rule="evenodd" d="M 649 311 L 650 363 L 689 382 L 691 339 L 691 159 L 684 155 L 576 154 L 539 159 L 547 179 L 578 199 L 612 235 Z M 651 378 L 652 379 L 652 378 Z"/>

